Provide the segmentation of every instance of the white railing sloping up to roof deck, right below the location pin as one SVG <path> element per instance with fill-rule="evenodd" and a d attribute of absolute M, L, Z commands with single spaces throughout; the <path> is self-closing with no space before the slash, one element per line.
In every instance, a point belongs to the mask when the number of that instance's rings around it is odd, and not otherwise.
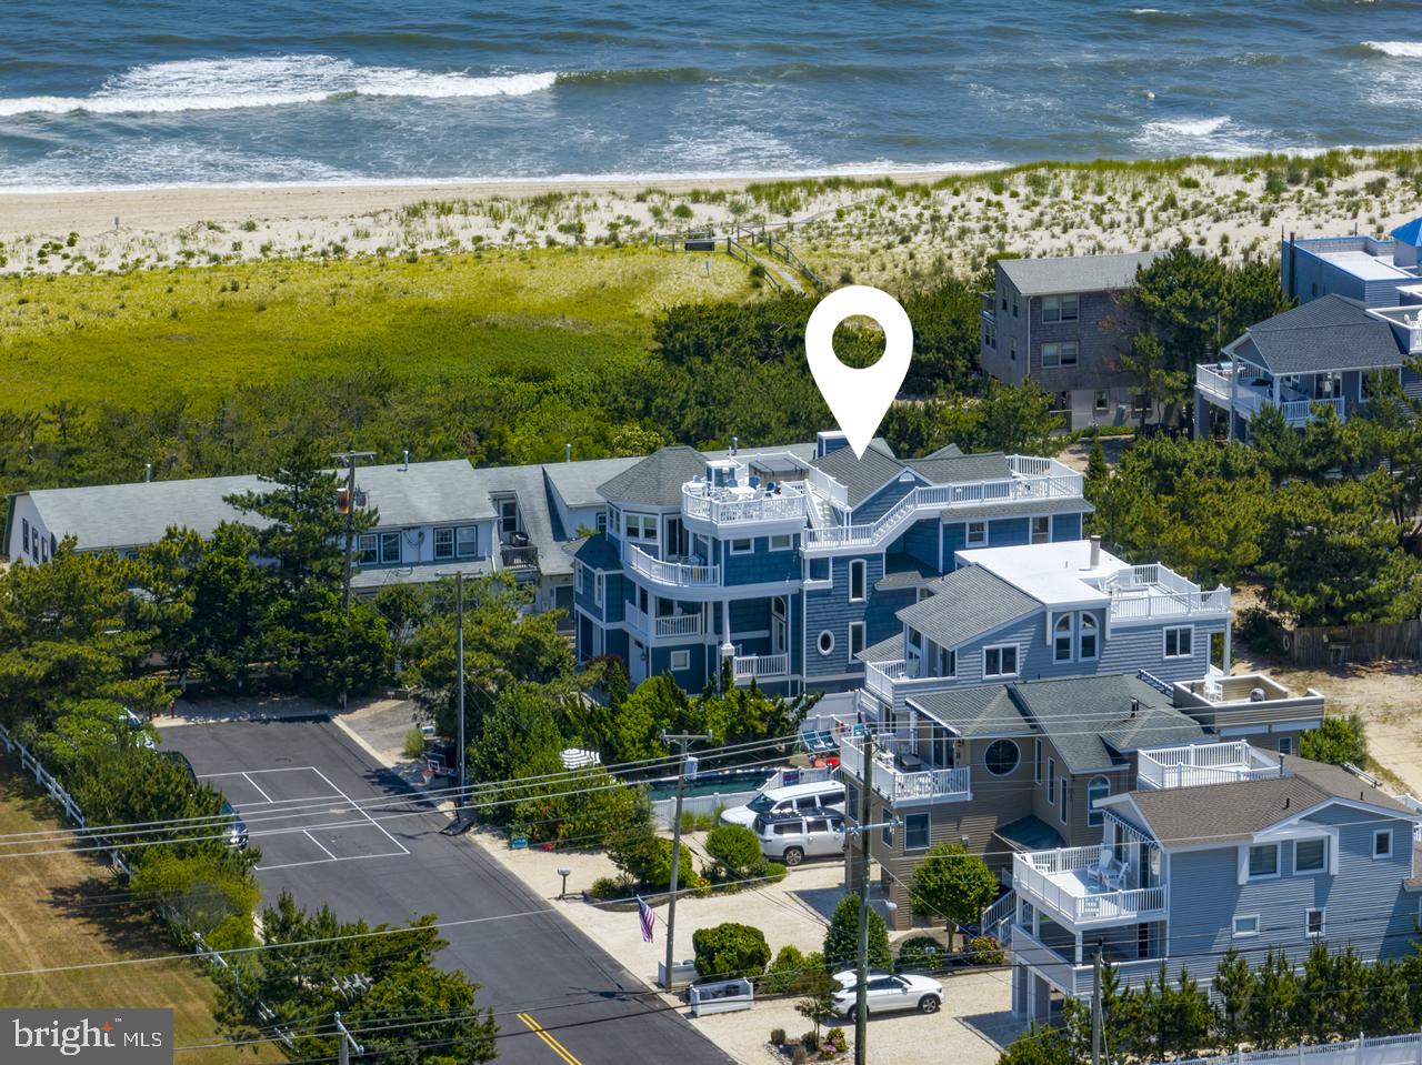
<path fill-rule="evenodd" d="M 877 522 L 806 529 L 805 546 L 811 549 L 875 546 L 884 543 L 904 525 L 924 513 L 941 513 L 960 508 L 973 509 L 985 503 L 1017 499 L 1081 498 L 1082 475 L 1057 459 L 1012 455 L 1008 458 L 1008 464 L 1014 469 L 1014 476 L 916 488 Z M 1039 472 L 1018 473 L 1015 471 Z"/>

